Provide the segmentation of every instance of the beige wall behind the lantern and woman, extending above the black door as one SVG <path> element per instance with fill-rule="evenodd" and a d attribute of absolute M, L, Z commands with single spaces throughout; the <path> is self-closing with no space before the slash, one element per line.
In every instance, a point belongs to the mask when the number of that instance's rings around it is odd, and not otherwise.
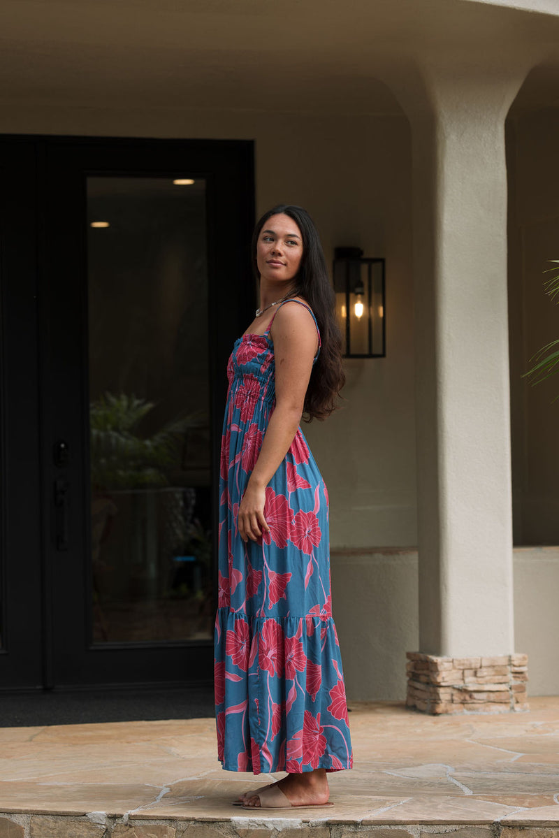
<path fill-rule="evenodd" d="M 302 204 L 318 225 L 329 265 L 340 245 L 385 256 L 386 358 L 348 360 L 344 409 L 303 432 L 329 487 L 333 546 L 416 544 L 405 116 L 13 108 L 2 111 L 0 131 L 254 139 L 257 213 L 280 201 Z"/>

